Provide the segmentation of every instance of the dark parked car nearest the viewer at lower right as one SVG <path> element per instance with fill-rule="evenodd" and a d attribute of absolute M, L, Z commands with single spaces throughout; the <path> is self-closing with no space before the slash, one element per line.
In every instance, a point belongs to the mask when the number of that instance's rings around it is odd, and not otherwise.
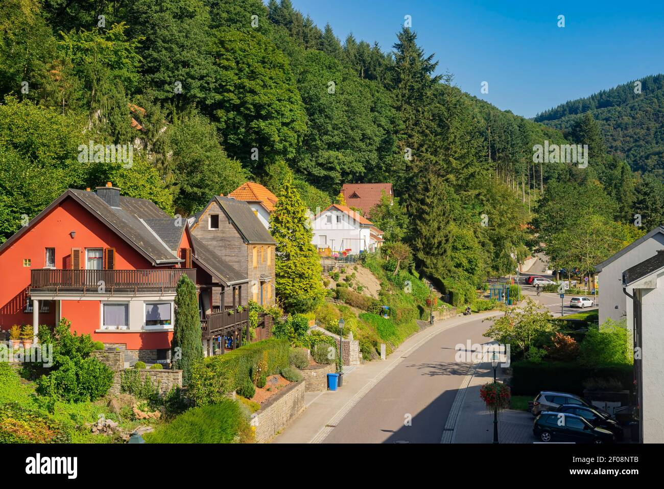
<path fill-rule="evenodd" d="M 616 437 L 596 428 L 584 418 L 568 413 L 544 411 L 533 423 L 533 435 L 542 442 L 613 443 Z"/>

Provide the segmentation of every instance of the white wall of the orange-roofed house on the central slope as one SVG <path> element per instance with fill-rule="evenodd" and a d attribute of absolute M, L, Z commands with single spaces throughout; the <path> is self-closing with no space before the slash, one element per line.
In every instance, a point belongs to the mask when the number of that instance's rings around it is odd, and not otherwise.
<path fill-rule="evenodd" d="M 351 254 L 359 254 L 371 248 L 369 227 L 341 211 L 329 209 L 313 219 L 311 243 L 317 248 L 331 248 L 333 252 L 350 248 Z"/>

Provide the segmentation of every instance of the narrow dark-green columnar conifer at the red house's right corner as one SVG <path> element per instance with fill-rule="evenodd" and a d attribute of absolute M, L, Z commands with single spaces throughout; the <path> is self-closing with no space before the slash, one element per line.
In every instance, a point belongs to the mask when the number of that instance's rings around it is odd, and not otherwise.
<path fill-rule="evenodd" d="M 183 275 L 175 289 L 175 328 L 173 329 L 173 368 L 182 369 L 183 384 L 189 383 L 191 366 L 203 358 L 201 317 L 196 286 Z"/>

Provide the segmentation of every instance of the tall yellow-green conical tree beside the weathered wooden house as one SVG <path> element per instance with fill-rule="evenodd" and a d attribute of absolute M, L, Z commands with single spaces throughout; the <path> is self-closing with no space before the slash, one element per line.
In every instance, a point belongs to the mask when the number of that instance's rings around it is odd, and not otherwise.
<path fill-rule="evenodd" d="M 284 180 L 277 205 L 270 216 L 270 232 L 276 246 L 274 269 L 277 297 L 291 312 L 307 312 L 323 299 L 321 263 L 311 244 L 307 207 L 293 187 L 292 177 Z"/>

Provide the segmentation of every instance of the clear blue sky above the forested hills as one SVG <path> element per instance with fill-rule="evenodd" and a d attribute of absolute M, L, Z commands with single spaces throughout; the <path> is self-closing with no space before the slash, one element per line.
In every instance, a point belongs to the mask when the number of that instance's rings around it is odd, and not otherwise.
<path fill-rule="evenodd" d="M 566 100 L 664 72 L 664 2 L 291 0 L 342 43 L 391 49 L 404 15 L 463 91 L 533 117 Z M 565 27 L 558 27 L 558 15 Z M 489 93 L 481 94 L 481 83 Z"/>

